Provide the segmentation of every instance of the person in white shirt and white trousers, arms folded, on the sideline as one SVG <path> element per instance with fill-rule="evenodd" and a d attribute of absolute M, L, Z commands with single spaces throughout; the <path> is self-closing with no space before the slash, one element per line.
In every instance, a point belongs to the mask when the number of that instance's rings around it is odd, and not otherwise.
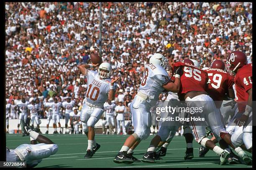
<path fill-rule="evenodd" d="M 118 102 L 118 106 L 115 107 L 115 112 L 117 113 L 116 116 L 116 121 L 117 121 L 117 126 L 118 126 L 118 132 L 117 134 L 120 135 L 120 125 L 122 124 L 122 129 L 123 129 L 123 135 L 126 135 L 125 132 L 125 125 L 124 125 L 124 112 L 125 112 L 125 106 L 123 105 L 122 101 Z"/>

